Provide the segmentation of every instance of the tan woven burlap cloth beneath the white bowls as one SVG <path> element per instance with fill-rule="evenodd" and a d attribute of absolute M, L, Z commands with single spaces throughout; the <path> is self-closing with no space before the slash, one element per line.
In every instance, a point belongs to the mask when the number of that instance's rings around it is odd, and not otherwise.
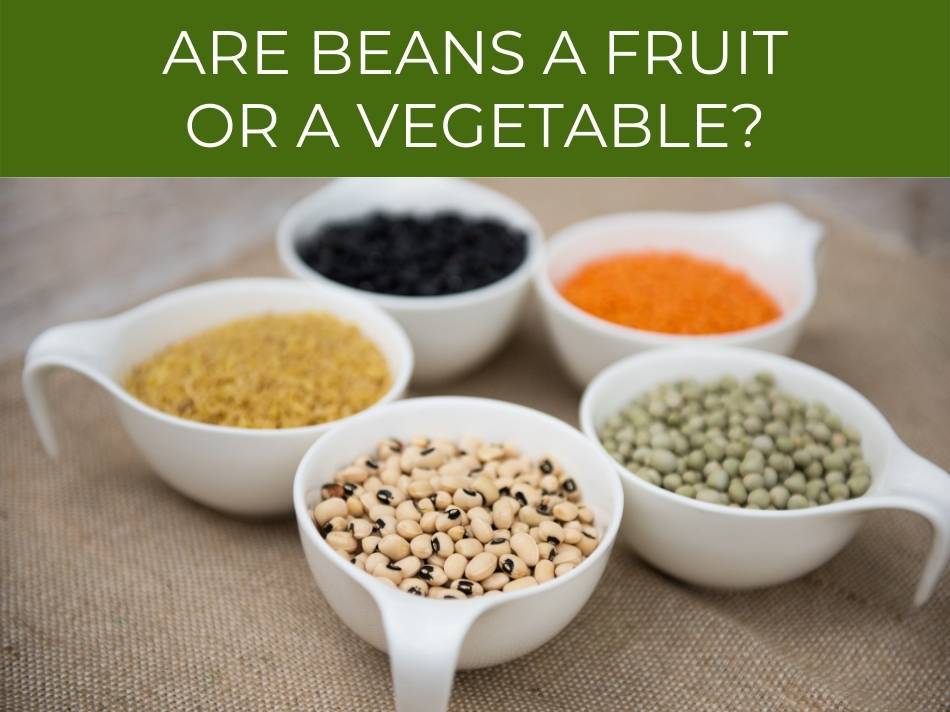
<path fill-rule="evenodd" d="M 522 182 L 548 229 L 629 206 L 749 202 L 731 184 Z M 583 193 L 581 197 L 578 197 Z M 886 254 L 834 224 L 797 356 L 863 391 L 950 467 L 946 265 Z M 276 273 L 270 247 L 227 273 Z M 121 306 L 117 302 L 116 308 Z M 537 319 L 451 393 L 576 421 L 577 392 Z M 0 367 L 0 610 L 5 709 L 390 709 L 386 657 L 336 618 L 294 524 L 235 521 L 143 465 L 106 398 L 63 374 L 50 462 Z M 617 550 L 577 620 L 534 654 L 461 673 L 455 710 L 950 708 L 950 581 L 913 610 L 929 526 L 870 517 L 829 564 L 771 589 L 697 590 Z M 741 552 L 736 552 L 741 556 Z"/>

